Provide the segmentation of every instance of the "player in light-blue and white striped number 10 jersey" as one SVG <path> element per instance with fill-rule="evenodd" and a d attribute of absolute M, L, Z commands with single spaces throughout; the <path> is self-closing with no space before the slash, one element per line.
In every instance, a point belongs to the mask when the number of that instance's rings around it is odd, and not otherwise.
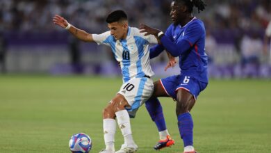
<path fill-rule="evenodd" d="M 154 91 L 150 78 L 154 72 L 149 64 L 149 44 L 157 44 L 157 38 L 154 35 L 144 35 L 139 29 L 130 27 L 123 10 L 115 10 L 108 15 L 106 22 L 110 31 L 101 34 L 90 34 L 77 29 L 59 15 L 54 16 L 53 22 L 80 40 L 111 47 L 122 69 L 123 84 L 103 111 L 106 149 L 101 150 L 101 153 L 115 152 L 115 118 L 124 136 L 124 144 L 117 153 L 136 152 L 138 146 L 133 141 L 129 116 L 134 118 L 139 106 L 149 99 Z"/>

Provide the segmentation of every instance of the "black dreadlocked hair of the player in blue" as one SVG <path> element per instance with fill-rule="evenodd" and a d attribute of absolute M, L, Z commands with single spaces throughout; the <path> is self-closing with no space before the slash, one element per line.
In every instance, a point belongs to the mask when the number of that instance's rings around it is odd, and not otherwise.
<path fill-rule="evenodd" d="M 176 1 L 176 3 L 183 2 L 184 5 L 188 7 L 189 13 L 192 13 L 193 6 L 197 8 L 198 13 L 200 11 L 203 11 L 206 6 L 206 3 L 204 3 L 202 0 L 173 0 L 173 1 Z"/>

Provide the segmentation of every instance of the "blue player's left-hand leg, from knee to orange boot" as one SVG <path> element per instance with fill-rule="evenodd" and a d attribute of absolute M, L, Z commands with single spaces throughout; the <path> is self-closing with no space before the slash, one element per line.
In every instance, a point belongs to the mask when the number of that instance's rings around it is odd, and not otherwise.
<path fill-rule="evenodd" d="M 145 106 L 149 112 L 149 115 L 151 116 L 151 120 L 156 123 L 156 127 L 159 131 L 160 140 L 154 146 L 154 150 L 161 150 L 164 147 L 174 145 L 174 140 L 170 137 L 170 134 L 167 131 L 163 116 L 163 108 L 157 97 L 169 97 L 167 92 L 165 92 L 163 89 L 161 81 L 154 82 L 154 93 L 152 97 L 145 102 Z"/>

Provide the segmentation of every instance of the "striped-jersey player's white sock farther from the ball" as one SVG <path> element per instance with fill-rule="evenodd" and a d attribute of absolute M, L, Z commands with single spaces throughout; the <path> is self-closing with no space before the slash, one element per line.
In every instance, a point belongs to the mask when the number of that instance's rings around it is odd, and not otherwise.
<path fill-rule="evenodd" d="M 116 113 L 117 123 L 119 124 L 120 130 L 122 131 L 122 136 L 124 137 L 124 143 L 126 145 L 134 145 L 130 117 L 126 110 L 117 111 Z"/>

